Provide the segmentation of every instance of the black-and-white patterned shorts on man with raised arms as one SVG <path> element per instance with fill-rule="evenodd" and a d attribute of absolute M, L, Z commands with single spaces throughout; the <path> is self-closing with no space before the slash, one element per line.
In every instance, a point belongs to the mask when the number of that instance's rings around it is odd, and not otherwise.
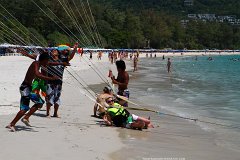
<path fill-rule="evenodd" d="M 47 84 L 47 103 L 51 105 L 60 105 L 60 96 L 62 92 L 61 84 Z"/>

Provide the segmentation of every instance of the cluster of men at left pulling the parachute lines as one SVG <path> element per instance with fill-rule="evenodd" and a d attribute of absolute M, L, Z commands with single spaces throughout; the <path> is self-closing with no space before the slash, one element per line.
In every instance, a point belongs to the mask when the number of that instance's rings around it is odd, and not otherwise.
<path fill-rule="evenodd" d="M 77 47 L 78 43 L 74 45 L 72 53 L 70 53 L 70 47 L 61 47 L 51 51 L 42 49 L 38 55 L 29 54 L 23 49 L 20 51 L 23 55 L 34 59 L 34 62 L 29 66 L 19 88 L 21 94 L 20 111 L 6 128 L 16 131 L 15 125 L 20 119 L 25 125 L 31 126 L 30 116 L 42 108 L 45 101 L 47 104 L 46 116 L 50 117 L 50 107 L 54 106 L 53 117 L 59 117 L 58 108 L 64 68 L 69 66 L 69 61 L 73 59 Z M 41 93 L 45 96 L 45 101 L 41 98 Z M 34 103 L 31 108 L 29 107 L 30 101 Z"/>

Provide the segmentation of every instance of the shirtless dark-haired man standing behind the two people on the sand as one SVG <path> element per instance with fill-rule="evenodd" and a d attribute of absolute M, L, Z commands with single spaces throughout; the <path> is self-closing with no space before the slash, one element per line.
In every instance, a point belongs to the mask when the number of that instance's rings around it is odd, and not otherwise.
<path fill-rule="evenodd" d="M 124 96 L 127 99 L 129 98 L 129 90 L 128 90 L 128 82 L 129 82 L 129 75 L 126 72 L 126 64 L 123 60 L 116 61 L 118 76 L 115 79 L 114 76 L 111 76 L 112 83 L 118 85 L 118 95 Z M 124 100 L 120 100 L 119 102 L 121 105 L 127 107 L 128 103 Z"/>

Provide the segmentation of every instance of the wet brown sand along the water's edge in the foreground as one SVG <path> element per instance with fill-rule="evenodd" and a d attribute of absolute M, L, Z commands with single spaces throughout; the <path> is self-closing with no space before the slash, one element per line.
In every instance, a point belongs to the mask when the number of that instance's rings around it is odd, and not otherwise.
<path fill-rule="evenodd" d="M 140 56 L 140 58 L 145 57 Z M 128 67 L 130 70 L 132 69 L 132 62 L 128 61 Z M 135 75 L 132 78 L 138 78 L 138 76 Z M 131 84 L 129 86 L 131 88 Z M 137 94 L 130 96 L 130 100 L 142 104 L 146 108 L 159 110 L 157 107 L 141 103 L 144 102 L 143 97 L 141 102 L 138 102 L 135 99 L 136 96 Z M 167 109 L 160 110 L 163 113 L 177 115 Z M 140 132 L 119 128 L 119 137 L 122 139 L 125 147 L 111 155 L 116 159 L 237 160 L 239 157 L 239 150 L 234 149 L 235 146 L 229 146 L 225 141 L 226 139 L 223 140 L 221 135 L 218 135 L 215 130 L 204 130 L 199 124 L 174 117 L 158 116 L 152 113 L 132 110 L 130 112 L 145 117 L 151 116 L 153 124 L 157 127 Z"/>

